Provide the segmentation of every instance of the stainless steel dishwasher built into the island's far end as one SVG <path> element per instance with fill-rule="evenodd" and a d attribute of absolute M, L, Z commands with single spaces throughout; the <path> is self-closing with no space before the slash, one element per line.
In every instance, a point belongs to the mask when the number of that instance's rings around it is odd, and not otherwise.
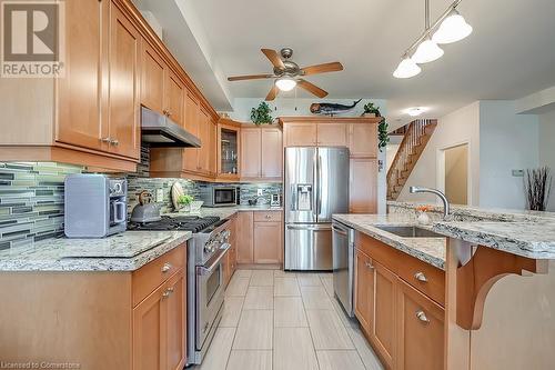
<path fill-rule="evenodd" d="M 353 318 L 354 229 L 333 221 L 333 290 L 345 312 Z"/>

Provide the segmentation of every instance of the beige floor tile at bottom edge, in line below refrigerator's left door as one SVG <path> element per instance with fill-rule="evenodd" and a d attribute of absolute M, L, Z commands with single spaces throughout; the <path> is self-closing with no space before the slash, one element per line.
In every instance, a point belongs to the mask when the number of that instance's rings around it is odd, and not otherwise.
<path fill-rule="evenodd" d="M 317 370 L 307 328 L 275 328 L 274 370 Z"/>

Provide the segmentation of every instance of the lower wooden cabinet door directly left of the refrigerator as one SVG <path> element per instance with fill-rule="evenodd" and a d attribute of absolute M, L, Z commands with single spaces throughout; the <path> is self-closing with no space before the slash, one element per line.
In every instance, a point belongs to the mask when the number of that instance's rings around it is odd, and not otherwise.
<path fill-rule="evenodd" d="M 254 222 L 254 263 L 280 263 L 281 222 Z"/>

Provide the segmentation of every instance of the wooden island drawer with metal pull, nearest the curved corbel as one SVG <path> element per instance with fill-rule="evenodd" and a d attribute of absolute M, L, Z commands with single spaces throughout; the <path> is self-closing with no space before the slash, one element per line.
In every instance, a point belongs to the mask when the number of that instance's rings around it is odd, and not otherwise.
<path fill-rule="evenodd" d="M 398 276 L 420 292 L 445 306 L 445 271 L 403 253 Z"/>

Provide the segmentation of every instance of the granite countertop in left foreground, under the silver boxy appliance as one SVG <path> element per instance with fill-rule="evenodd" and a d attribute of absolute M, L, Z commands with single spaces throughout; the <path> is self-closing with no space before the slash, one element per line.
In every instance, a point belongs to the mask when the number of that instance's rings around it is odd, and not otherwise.
<path fill-rule="evenodd" d="M 125 231 L 57 238 L 0 251 L 0 271 L 134 271 L 191 238 L 190 231 Z"/>

